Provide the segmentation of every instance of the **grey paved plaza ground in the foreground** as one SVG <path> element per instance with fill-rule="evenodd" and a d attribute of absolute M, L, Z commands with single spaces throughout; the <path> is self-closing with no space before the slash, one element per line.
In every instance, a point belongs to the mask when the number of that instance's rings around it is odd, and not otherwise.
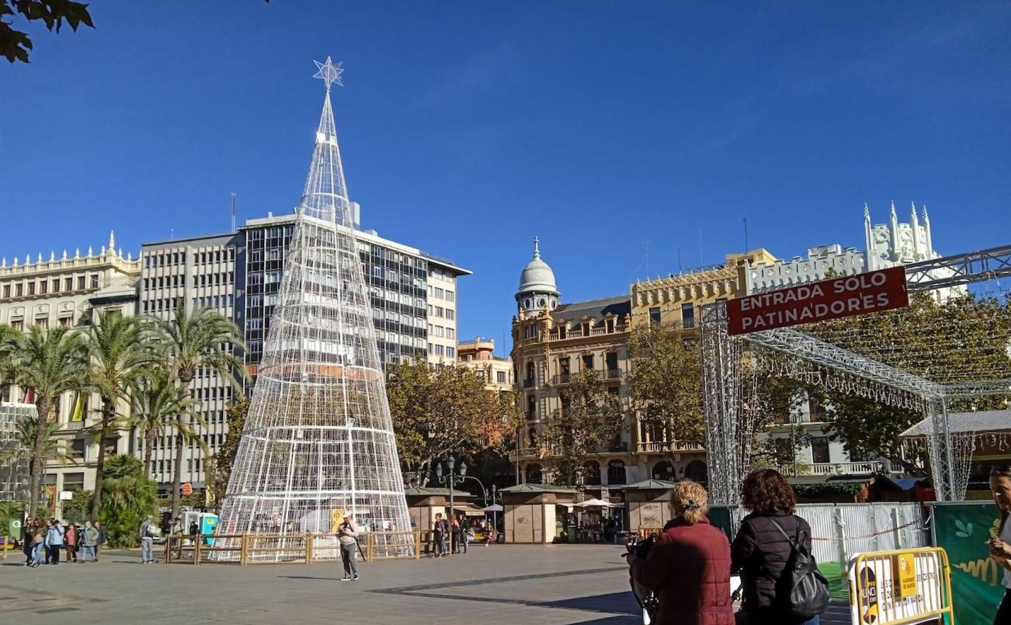
<path fill-rule="evenodd" d="M 492 545 L 443 559 L 359 563 L 142 564 L 110 551 L 94 564 L 25 568 L 0 560 L 0 623 L 74 625 L 388 625 L 522 623 L 636 625 L 624 549 Z M 823 623 L 848 623 L 833 606 Z"/>

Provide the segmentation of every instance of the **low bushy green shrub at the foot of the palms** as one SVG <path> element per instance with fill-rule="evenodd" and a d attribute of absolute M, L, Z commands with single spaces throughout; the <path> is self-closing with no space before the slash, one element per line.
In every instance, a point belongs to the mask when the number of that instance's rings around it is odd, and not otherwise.
<path fill-rule="evenodd" d="M 141 522 L 158 512 L 158 485 L 148 477 L 144 464 L 128 454 L 119 454 L 105 462 L 105 497 L 99 520 L 113 547 L 132 547 L 140 543 Z"/>

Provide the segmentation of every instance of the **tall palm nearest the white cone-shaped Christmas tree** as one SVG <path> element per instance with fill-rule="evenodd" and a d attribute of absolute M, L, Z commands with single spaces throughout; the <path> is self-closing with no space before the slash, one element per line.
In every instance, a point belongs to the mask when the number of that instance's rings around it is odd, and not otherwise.
<path fill-rule="evenodd" d="M 171 321 L 158 322 L 158 344 L 168 360 L 171 370 L 179 378 L 179 385 L 189 389 L 190 382 L 200 368 L 211 369 L 233 385 L 239 387 L 236 375 L 246 376 L 243 361 L 233 355 L 233 347 L 245 347 L 239 327 L 220 312 L 211 308 L 190 311 L 185 305 L 176 307 Z M 186 424 L 183 415 L 176 418 L 180 434 Z M 172 487 L 172 516 L 179 516 L 180 486 L 182 485 L 183 436 L 176 437 L 175 475 Z"/>

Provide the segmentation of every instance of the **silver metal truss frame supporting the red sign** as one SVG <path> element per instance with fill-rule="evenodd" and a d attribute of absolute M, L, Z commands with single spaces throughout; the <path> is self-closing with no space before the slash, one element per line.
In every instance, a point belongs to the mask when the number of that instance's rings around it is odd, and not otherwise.
<path fill-rule="evenodd" d="M 907 265 L 909 291 L 934 290 L 1011 276 L 1011 246 L 955 254 Z M 702 306 L 703 387 L 709 482 L 713 501 L 736 506 L 748 471 L 748 449 L 757 434 L 743 419 L 756 391 L 757 378 L 742 370 L 762 353 L 786 356 L 802 368 L 814 365 L 863 380 L 859 392 L 896 406 L 914 408 L 930 420 L 927 437 L 931 477 L 938 501 L 960 499 L 955 479 L 955 444 L 948 424 L 948 400 L 1011 393 L 1011 378 L 939 383 L 867 356 L 843 349 L 795 328 L 779 328 L 731 336 L 727 333 L 725 301 Z M 754 367 L 751 367 L 754 368 Z M 822 381 L 822 380 L 819 380 Z M 824 382 L 823 382 L 824 383 Z M 877 387 L 877 388 L 876 388 Z"/>

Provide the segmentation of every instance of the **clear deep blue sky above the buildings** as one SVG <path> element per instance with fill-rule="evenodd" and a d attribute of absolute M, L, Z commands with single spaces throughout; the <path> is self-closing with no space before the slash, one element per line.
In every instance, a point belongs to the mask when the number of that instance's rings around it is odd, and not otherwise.
<path fill-rule="evenodd" d="M 453 259 L 460 337 L 501 341 L 540 236 L 563 300 L 862 247 L 929 207 L 1011 239 L 1011 3 L 95 0 L 0 67 L 0 256 L 223 232 L 298 201 L 323 85 L 365 228 Z M 45 215 L 44 217 L 42 215 Z M 701 233 L 701 237 L 700 237 Z M 701 245 L 700 245 L 701 242 Z M 645 249 L 648 245 L 648 262 Z M 647 269 L 648 267 L 648 269 Z"/>

